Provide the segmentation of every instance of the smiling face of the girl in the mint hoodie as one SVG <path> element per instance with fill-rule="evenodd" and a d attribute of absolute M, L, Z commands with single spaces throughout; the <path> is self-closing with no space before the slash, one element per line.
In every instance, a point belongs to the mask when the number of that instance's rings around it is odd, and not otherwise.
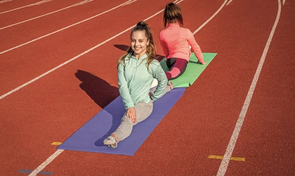
<path fill-rule="evenodd" d="M 149 39 L 144 31 L 134 31 L 131 34 L 131 49 L 134 51 L 133 56 L 139 59 L 147 52 Z"/>

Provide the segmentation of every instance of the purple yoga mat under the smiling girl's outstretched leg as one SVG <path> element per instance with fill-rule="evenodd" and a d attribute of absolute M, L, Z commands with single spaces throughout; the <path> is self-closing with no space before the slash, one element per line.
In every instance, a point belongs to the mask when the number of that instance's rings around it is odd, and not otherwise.
<path fill-rule="evenodd" d="M 175 88 L 153 102 L 153 111 L 150 116 L 133 126 L 131 135 L 125 140 L 119 141 L 117 148 L 105 146 L 103 140 L 118 128 L 120 119 L 125 113 L 120 96 L 98 112 L 57 148 L 133 156 L 149 134 L 176 104 L 184 91 L 185 88 Z"/>

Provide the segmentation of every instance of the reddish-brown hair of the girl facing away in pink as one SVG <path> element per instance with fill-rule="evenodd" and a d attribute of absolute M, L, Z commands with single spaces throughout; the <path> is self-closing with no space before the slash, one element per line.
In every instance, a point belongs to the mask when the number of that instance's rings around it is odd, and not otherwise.
<path fill-rule="evenodd" d="M 180 27 L 183 26 L 183 19 L 181 14 L 181 9 L 177 4 L 171 2 L 166 5 L 163 16 L 164 28 L 167 27 L 169 23 L 178 23 Z"/>

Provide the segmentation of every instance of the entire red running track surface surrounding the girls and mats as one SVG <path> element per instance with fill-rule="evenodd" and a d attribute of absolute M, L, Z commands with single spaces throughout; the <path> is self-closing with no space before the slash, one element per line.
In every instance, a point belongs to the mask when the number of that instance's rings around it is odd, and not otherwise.
<path fill-rule="evenodd" d="M 82 0 L 81 0 L 82 1 Z M 25 3 L 26 2 L 26 3 Z M 36 0 L 1 3 L 6 11 Z M 53 0 L 0 14 L 7 26 L 75 1 Z M 125 0 L 84 5 L 0 30 L 0 52 L 104 12 Z M 117 35 L 164 8 L 168 0 L 138 0 L 28 45 L 0 54 L 0 95 Z M 184 0 L 184 26 L 199 28 L 224 0 Z M 287 4 L 288 3 L 288 4 Z M 2 6 L 5 4 L 5 6 Z M 148 4 L 148 5 L 147 5 Z M 203 52 L 218 53 L 134 156 L 63 151 L 43 171 L 54 176 L 216 175 L 276 18 L 277 0 L 233 0 L 199 31 Z M 30 11 L 25 13 L 25 11 Z M 34 13 L 31 13 L 34 11 Z M 295 5 L 281 17 L 236 142 L 226 175 L 292 175 L 295 172 Z M 157 52 L 162 13 L 147 21 Z M 97 112 L 118 97 L 116 62 L 130 31 L 0 100 L 0 175 L 25 175 Z M 115 47 L 114 45 L 121 45 Z M 112 169 L 113 168 L 113 169 Z"/>

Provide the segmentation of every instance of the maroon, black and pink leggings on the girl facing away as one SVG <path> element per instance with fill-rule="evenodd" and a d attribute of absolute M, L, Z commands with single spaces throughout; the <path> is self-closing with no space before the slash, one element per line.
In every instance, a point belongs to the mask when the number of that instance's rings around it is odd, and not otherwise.
<path fill-rule="evenodd" d="M 187 60 L 180 58 L 170 58 L 167 59 L 167 67 L 169 71 L 166 71 L 166 76 L 168 80 L 176 79 L 179 77 L 186 69 Z"/>

